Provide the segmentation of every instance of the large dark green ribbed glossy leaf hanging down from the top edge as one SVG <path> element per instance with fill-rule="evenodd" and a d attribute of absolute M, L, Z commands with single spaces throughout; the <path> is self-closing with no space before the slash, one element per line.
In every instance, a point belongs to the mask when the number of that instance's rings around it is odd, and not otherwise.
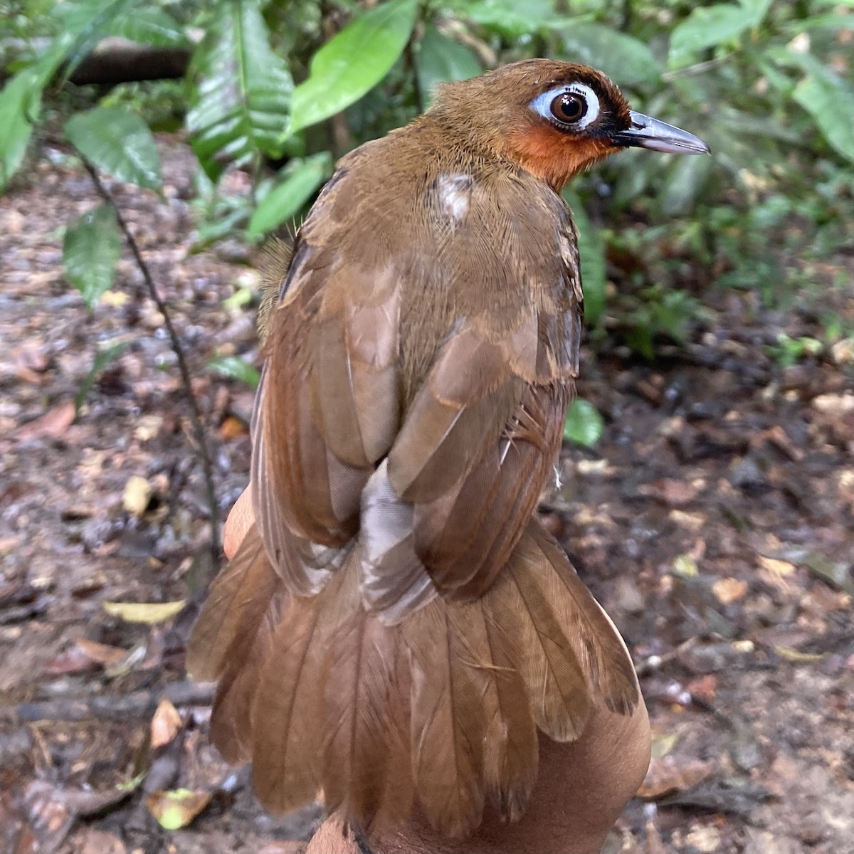
<path fill-rule="evenodd" d="M 215 180 L 227 162 L 263 152 L 281 155 L 288 134 L 293 80 L 270 46 L 253 0 L 218 3 L 196 49 L 187 127 L 205 172 Z"/>

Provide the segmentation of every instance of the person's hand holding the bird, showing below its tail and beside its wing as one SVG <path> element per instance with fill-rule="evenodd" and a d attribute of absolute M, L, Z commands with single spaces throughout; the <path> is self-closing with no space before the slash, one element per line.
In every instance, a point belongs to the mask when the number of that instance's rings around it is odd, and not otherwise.
<path fill-rule="evenodd" d="M 247 489 L 225 523 L 231 556 L 254 522 Z M 418 812 L 395 834 L 360 846 L 331 816 L 309 841 L 306 854 L 598 854 L 617 816 L 637 791 L 650 758 L 649 717 L 643 699 L 631 717 L 595 706 L 582 737 L 558 744 L 540 736 L 539 775 L 519 822 L 501 822 L 487 809 L 475 834 L 448 839 Z"/>

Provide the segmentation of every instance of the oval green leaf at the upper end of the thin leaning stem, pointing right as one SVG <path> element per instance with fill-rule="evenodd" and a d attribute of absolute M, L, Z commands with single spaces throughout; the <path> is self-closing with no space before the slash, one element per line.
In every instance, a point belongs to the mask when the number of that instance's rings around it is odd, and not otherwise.
<path fill-rule="evenodd" d="M 72 116 L 65 135 L 86 160 L 126 184 L 161 188 L 160 154 L 149 126 L 135 113 L 96 107 Z"/>

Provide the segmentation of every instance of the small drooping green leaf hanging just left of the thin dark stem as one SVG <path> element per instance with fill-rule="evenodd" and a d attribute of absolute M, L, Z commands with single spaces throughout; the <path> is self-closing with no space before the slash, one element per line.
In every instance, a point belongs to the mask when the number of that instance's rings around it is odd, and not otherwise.
<path fill-rule="evenodd" d="M 68 280 L 83 295 L 90 311 L 113 284 L 121 255 L 121 236 L 115 213 L 100 205 L 69 225 L 62 243 L 62 263 Z"/>

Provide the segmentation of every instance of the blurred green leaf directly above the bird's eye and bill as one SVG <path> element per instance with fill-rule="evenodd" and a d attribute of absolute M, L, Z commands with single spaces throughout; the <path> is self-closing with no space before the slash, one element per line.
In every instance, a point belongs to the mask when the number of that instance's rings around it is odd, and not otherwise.
<path fill-rule="evenodd" d="M 661 67 L 652 50 L 637 38 L 600 24 L 570 23 L 559 27 L 564 55 L 572 62 L 600 68 L 620 85 L 658 80 Z"/>

